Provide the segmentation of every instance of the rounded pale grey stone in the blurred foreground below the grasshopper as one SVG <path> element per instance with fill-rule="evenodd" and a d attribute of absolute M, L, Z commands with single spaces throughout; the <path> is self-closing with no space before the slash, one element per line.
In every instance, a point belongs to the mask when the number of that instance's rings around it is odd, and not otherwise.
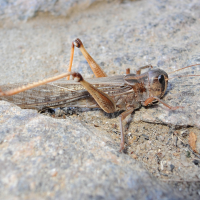
<path fill-rule="evenodd" d="M 3 101 L 0 112 L 2 199 L 181 199 L 78 120 Z"/>

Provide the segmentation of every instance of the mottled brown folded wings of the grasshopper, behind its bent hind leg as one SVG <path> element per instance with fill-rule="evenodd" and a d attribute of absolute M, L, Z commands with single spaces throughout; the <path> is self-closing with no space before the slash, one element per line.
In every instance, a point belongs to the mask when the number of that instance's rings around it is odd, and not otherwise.
<path fill-rule="evenodd" d="M 112 96 L 115 102 L 119 100 L 120 95 L 132 90 L 130 86 L 124 85 L 123 75 L 87 81 Z M 7 91 L 23 85 L 26 83 L 2 85 L 0 88 L 2 91 Z M 13 96 L 3 96 L 0 99 L 12 102 L 21 108 L 38 110 L 45 107 L 98 107 L 91 95 L 75 81 L 49 83 Z"/>

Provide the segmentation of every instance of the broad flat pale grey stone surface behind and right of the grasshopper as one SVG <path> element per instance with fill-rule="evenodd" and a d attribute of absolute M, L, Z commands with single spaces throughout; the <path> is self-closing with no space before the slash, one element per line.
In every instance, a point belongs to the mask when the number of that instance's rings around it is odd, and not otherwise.
<path fill-rule="evenodd" d="M 135 71 L 145 64 L 167 72 L 197 64 L 200 26 L 197 6 L 195 1 L 101 3 L 73 14 L 68 20 L 43 16 L 27 24 L 2 22 L 3 27 L 12 26 L 15 31 L 2 28 L 0 32 L 4 66 L 1 83 L 35 81 L 66 71 L 70 43 L 76 37 L 83 40 L 108 75 L 122 74 L 127 67 Z M 91 75 L 79 51 L 75 52 L 73 69 L 85 77 Z M 199 69 L 200 66 L 195 66 L 177 74 L 197 74 Z M 136 112 L 135 120 L 200 127 L 199 90 L 199 77 L 171 79 L 164 99 L 184 109 L 170 111 L 158 105 L 148 112 L 147 109 Z"/>

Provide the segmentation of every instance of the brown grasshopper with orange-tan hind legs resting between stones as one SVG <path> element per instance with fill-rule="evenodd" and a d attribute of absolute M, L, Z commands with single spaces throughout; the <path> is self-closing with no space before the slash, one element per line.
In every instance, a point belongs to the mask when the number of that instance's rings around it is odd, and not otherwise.
<path fill-rule="evenodd" d="M 75 47 L 81 50 L 96 78 L 85 80 L 80 73 L 71 72 Z M 141 70 L 145 68 L 148 68 L 148 71 L 141 74 Z M 69 76 L 72 76 L 73 80 L 69 80 Z M 64 77 L 68 80 L 65 83 L 49 84 Z M 101 108 L 107 113 L 123 110 L 119 115 L 121 152 L 125 146 L 123 120 L 134 110 L 154 102 L 160 102 L 171 110 L 182 108 L 172 107 L 161 100 L 166 92 L 168 79 L 165 71 L 153 69 L 151 65 L 140 67 L 136 74 L 131 74 L 130 69 L 127 69 L 126 75 L 107 77 L 77 38 L 72 42 L 67 73 L 25 86 L 3 85 L 0 89 L 0 99 L 13 102 L 21 108 L 37 110 L 55 107 Z"/>

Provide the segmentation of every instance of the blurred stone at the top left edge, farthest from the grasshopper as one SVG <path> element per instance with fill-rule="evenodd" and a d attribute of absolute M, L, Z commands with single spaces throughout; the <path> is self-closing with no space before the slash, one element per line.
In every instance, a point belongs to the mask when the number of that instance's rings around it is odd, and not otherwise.
<path fill-rule="evenodd" d="M 0 17 L 26 21 L 38 12 L 49 12 L 54 16 L 69 16 L 73 12 L 85 10 L 95 2 L 97 0 L 1 0 Z"/>

